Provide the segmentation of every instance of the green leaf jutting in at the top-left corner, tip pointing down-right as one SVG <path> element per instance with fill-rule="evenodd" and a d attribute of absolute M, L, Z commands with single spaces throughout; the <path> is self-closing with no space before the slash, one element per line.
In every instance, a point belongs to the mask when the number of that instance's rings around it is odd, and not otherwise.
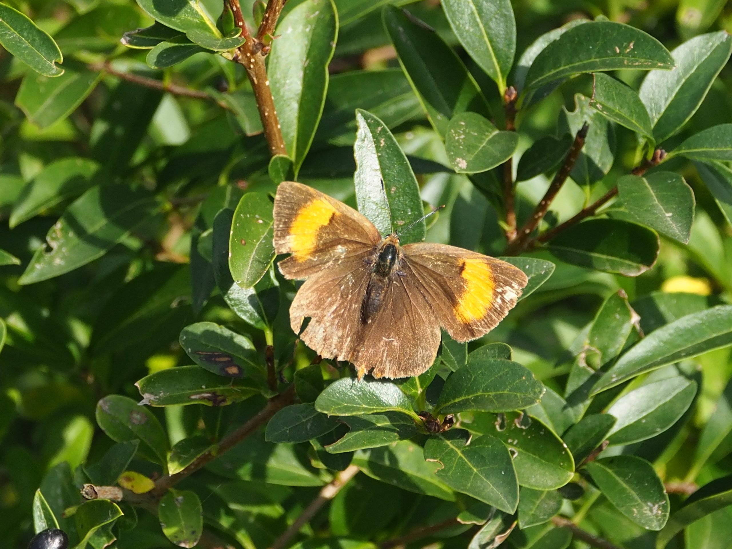
<path fill-rule="evenodd" d="M 12 55 L 44 76 L 60 76 L 64 57 L 56 42 L 26 15 L 0 4 L 0 44 Z"/>

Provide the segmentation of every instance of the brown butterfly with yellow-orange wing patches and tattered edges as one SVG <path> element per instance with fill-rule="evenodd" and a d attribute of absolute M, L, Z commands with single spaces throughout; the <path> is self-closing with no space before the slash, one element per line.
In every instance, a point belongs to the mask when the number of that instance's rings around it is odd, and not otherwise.
<path fill-rule="evenodd" d="M 323 358 L 348 360 L 361 378 L 419 376 L 435 360 L 440 326 L 459 342 L 493 329 L 527 278 L 517 267 L 445 244 L 400 246 L 362 214 L 307 187 L 282 182 L 275 250 L 285 278 L 305 280 L 290 325 Z"/>

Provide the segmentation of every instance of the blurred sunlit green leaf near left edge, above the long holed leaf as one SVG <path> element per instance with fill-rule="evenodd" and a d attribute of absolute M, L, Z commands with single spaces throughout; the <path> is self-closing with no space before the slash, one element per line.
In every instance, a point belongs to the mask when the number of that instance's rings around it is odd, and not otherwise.
<path fill-rule="evenodd" d="M 100 165 L 81 157 L 62 158 L 45 166 L 20 191 L 10 214 L 10 228 L 67 198 L 76 198 L 94 184 Z"/>

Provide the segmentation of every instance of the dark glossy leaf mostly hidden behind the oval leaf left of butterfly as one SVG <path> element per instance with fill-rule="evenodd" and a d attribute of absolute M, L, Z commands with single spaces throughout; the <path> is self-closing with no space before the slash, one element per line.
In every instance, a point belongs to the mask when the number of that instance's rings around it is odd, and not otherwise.
<path fill-rule="evenodd" d="M 280 307 L 280 287 L 275 272 L 262 277 L 253 288 L 246 290 L 236 284 L 231 277 L 228 264 L 231 224 L 234 212 L 222 209 L 214 220 L 212 266 L 214 278 L 226 304 L 247 324 L 258 329 L 266 329 L 272 324 Z"/>

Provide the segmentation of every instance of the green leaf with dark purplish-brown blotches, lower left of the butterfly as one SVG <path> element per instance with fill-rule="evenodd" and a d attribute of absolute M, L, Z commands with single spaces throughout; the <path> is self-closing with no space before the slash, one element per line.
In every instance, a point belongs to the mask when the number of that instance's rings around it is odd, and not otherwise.
<path fill-rule="evenodd" d="M 182 330 L 179 341 L 193 362 L 218 376 L 254 379 L 263 376 L 254 344 L 224 326 L 197 322 Z"/>

